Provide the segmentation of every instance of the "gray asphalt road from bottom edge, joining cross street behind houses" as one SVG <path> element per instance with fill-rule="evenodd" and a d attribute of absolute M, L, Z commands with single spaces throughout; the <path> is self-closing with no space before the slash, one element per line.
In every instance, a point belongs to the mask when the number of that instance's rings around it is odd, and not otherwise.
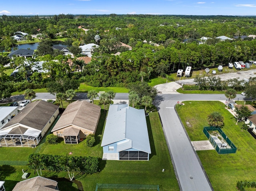
<path fill-rule="evenodd" d="M 78 93 L 75 99 L 87 99 L 86 93 Z M 50 93 L 36 93 L 35 99 L 55 99 Z M 245 97 L 237 95 L 236 100 Z M 9 100 L 23 100 L 24 96 L 12 96 Z M 128 93 L 117 93 L 115 100 L 128 100 Z M 226 100 L 225 95 L 214 94 L 158 94 L 154 104 L 160 114 L 164 135 L 182 191 L 212 191 L 213 188 L 191 144 L 183 124 L 174 110 L 177 101 Z M 7 100 L 5 100 L 6 102 Z"/>

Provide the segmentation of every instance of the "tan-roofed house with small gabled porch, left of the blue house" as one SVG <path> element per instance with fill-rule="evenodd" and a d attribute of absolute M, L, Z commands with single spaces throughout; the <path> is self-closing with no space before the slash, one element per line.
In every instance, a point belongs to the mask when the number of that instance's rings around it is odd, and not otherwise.
<path fill-rule="evenodd" d="M 76 100 L 67 106 L 52 133 L 64 138 L 65 144 L 78 144 L 88 134 L 95 134 L 100 110 L 98 105 L 86 100 Z"/>

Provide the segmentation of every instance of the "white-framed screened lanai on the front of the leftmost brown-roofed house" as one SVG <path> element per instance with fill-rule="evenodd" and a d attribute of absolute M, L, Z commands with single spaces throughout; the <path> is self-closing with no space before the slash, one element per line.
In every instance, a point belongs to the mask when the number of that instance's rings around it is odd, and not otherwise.
<path fill-rule="evenodd" d="M 41 139 L 40 131 L 21 126 L 0 131 L 1 147 L 36 147 Z"/>

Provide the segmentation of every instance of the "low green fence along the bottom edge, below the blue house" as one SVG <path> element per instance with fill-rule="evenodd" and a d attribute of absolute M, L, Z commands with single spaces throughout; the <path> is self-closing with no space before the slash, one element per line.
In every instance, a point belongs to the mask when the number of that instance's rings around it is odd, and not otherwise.
<path fill-rule="evenodd" d="M 159 185 L 144 185 L 144 184 L 97 184 L 98 189 L 118 189 L 118 190 L 157 190 L 159 191 Z"/>

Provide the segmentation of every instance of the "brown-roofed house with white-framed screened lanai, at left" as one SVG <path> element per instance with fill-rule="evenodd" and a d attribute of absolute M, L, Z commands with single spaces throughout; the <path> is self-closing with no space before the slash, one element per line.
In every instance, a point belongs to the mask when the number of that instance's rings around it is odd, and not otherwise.
<path fill-rule="evenodd" d="M 29 103 L 0 130 L 0 147 L 36 147 L 59 114 L 59 106 Z"/>

